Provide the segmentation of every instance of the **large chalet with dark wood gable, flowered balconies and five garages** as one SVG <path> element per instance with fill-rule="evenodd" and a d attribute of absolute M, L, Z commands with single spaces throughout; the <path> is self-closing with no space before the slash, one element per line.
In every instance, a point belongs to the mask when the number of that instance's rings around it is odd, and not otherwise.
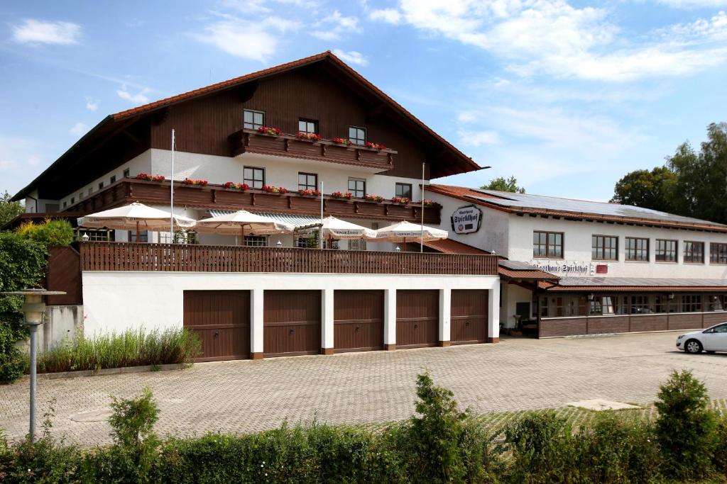
<path fill-rule="evenodd" d="M 246 209 L 310 228 L 322 205 L 325 216 L 376 229 L 420 220 L 412 202 L 422 198 L 422 162 L 427 180 L 479 168 L 325 52 L 109 115 L 15 200 L 28 210 L 21 221 L 130 202 L 169 210 L 173 179 L 174 211 L 191 218 Z M 321 183 L 322 202 L 305 192 Z M 441 208 L 423 216 L 438 225 Z M 185 245 L 156 232 L 80 234 L 90 240 L 78 252 L 52 254 L 48 283 L 68 290 L 52 302 L 82 313 L 87 335 L 189 327 L 205 359 L 499 337 L 491 255 L 397 253 L 361 241 L 298 248 L 308 245 L 305 229 L 244 240 L 200 234 Z"/>

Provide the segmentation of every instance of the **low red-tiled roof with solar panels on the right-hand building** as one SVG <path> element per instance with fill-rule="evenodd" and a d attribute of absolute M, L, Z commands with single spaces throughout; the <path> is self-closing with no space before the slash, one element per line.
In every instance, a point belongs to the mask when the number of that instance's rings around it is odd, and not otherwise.
<path fill-rule="evenodd" d="M 464 186 L 432 184 L 427 186 L 432 192 L 448 197 L 466 200 L 475 205 L 502 210 L 507 213 L 533 214 L 574 218 L 578 220 L 616 221 L 647 226 L 699 229 L 727 232 L 721 223 L 699 220 L 698 218 L 678 216 L 632 205 L 619 205 L 589 200 L 574 200 L 544 195 L 497 192 L 495 190 L 471 189 Z"/>

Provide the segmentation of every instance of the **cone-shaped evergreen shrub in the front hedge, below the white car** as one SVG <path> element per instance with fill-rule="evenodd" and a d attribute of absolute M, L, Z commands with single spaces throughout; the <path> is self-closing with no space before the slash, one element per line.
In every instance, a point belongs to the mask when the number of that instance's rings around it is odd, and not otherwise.
<path fill-rule="evenodd" d="M 698 478 L 712 467 L 715 450 L 715 415 L 704 383 L 688 370 L 672 372 L 659 387 L 656 436 L 668 475 Z"/>

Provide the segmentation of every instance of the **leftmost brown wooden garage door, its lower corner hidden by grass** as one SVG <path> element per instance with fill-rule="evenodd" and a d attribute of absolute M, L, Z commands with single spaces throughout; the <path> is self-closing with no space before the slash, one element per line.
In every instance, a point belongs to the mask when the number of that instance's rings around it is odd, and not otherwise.
<path fill-rule="evenodd" d="M 197 361 L 250 357 L 249 291 L 185 291 L 183 317 L 202 340 Z"/>

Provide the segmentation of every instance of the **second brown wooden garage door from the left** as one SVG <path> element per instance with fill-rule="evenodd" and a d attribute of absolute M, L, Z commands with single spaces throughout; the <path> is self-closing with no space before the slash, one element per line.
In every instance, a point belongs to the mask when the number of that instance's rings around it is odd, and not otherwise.
<path fill-rule="evenodd" d="M 265 291 L 264 356 L 321 350 L 321 291 Z"/>

